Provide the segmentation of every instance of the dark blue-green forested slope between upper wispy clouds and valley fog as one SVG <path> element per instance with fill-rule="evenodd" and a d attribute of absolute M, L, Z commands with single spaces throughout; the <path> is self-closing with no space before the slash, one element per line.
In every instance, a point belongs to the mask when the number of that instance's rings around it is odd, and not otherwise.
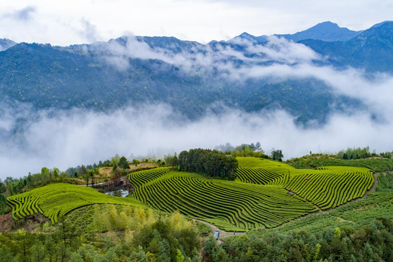
<path fill-rule="evenodd" d="M 217 101 L 249 112 L 283 108 L 305 121 L 323 120 L 334 109 L 329 107 L 333 102 L 359 106 L 354 99 L 336 97 L 330 87 L 315 79 L 239 83 L 214 73 L 190 74 L 159 59 L 127 58 L 129 67 L 119 70 L 108 63 L 110 58 L 95 51 L 85 54 L 50 45 L 18 44 L 0 53 L 0 99 L 29 102 L 36 108 L 103 111 L 163 102 L 191 119 Z"/>

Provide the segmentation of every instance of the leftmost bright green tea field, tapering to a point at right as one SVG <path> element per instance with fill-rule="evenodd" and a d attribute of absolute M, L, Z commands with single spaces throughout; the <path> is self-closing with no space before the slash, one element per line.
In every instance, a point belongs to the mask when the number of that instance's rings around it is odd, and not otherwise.
<path fill-rule="evenodd" d="M 133 198 L 112 197 L 97 190 L 65 183 L 50 184 L 7 198 L 16 220 L 25 216 L 41 213 L 56 223 L 59 215 L 90 204 L 126 204 L 143 206 Z"/>

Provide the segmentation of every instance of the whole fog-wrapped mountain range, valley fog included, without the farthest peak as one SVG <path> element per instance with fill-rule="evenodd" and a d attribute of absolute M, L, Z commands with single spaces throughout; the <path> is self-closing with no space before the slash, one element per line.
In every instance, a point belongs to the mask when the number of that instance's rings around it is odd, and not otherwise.
<path fill-rule="evenodd" d="M 126 35 L 1 51 L 0 175 L 226 142 L 286 157 L 392 150 L 391 22 L 347 41 L 266 39 Z"/>

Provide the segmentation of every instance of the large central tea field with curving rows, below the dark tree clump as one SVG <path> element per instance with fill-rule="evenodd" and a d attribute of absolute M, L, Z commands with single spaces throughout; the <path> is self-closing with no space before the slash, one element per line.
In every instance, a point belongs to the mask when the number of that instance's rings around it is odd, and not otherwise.
<path fill-rule="evenodd" d="M 166 212 L 180 210 L 226 230 L 272 228 L 316 210 L 313 204 L 272 186 L 207 179 L 168 169 L 133 173 L 129 178 L 138 185 L 133 198 Z"/>

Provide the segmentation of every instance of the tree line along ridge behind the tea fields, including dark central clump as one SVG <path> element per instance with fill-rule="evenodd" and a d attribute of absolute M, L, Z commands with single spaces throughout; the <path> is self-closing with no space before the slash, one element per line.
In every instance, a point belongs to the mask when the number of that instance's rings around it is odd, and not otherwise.
<path fill-rule="evenodd" d="M 226 143 L 225 146 L 220 145 L 216 148 L 219 149 L 190 149 L 189 151 L 183 151 L 181 158 L 180 154 L 177 156 L 174 153 L 173 155 L 165 155 L 164 160 L 148 160 L 145 158 L 143 162 L 157 164 L 158 166 L 176 167 L 179 171 L 234 180 L 238 167 L 236 157 L 252 156 L 277 161 L 282 161 L 283 158 L 282 151 L 274 148 L 272 148 L 270 156 L 266 155 L 259 142 L 255 143 L 255 145 L 253 143 L 242 144 L 236 147 Z M 87 185 L 91 184 L 94 186 L 97 182 L 97 177 L 100 175 L 99 168 L 102 167 L 112 168 L 112 176 L 109 179 L 116 182 L 121 176 L 127 175 L 130 172 L 130 165 L 137 166 L 139 163 L 140 160 L 133 159 L 130 162 L 126 157 L 120 157 L 116 154 L 111 159 L 99 161 L 98 164 L 70 167 L 65 172 L 60 171 L 56 167 L 53 169 L 43 167 L 40 173 L 29 173 L 27 176 L 21 178 L 7 177 L 4 181 L 0 180 L 0 189 L 4 187 L 4 194 L 9 196 L 53 182 L 77 183 L 76 179 L 83 179 Z M 108 179 L 108 177 L 105 179 Z"/>

